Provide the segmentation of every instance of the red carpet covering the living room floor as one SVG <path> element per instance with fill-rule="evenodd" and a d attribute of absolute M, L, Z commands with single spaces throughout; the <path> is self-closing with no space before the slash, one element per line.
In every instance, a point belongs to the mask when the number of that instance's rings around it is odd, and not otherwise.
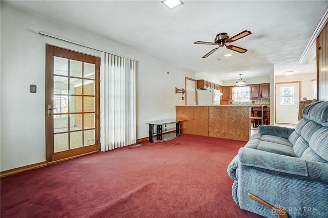
<path fill-rule="evenodd" d="M 182 135 L 1 179 L 1 217 L 261 217 L 233 201 L 245 142 Z"/>

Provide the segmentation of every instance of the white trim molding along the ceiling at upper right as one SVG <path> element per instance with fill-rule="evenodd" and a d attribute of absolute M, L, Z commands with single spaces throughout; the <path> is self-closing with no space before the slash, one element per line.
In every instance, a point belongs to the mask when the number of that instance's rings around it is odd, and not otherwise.
<path fill-rule="evenodd" d="M 327 22 L 327 19 L 328 19 L 328 8 L 322 15 L 316 29 L 314 30 L 314 32 L 312 34 L 312 37 L 311 37 L 308 45 L 306 46 L 300 60 L 298 61 L 300 64 L 309 64 L 315 58 L 315 56 L 316 56 L 316 49 L 315 49 L 316 39 L 319 36 L 319 34 L 321 33 L 321 30 L 324 28 L 324 26 Z"/>

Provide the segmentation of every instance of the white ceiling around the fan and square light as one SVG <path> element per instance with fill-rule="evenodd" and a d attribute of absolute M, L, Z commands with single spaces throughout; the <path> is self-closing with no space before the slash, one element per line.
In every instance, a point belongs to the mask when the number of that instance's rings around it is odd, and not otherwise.
<path fill-rule="evenodd" d="M 316 72 L 315 61 L 302 66 L 298 61 L 328 7 L 328 1 L 185 0 L 174 10 L 160 0 L 6 2 L 221 80 L 237 79 L 238 74 L 243 78 L 267 75 L 272 64 L 275 75 L 287 70 Z M 202 59 L 215 46 L 193 44 L 212 42 L 218 33 L 233 36 L 243 30 L 252 34 L 232 45 L 248 49 L 244 54 L 220 48 Z M 223 57 L 227 53 L 233 56 Z"/>

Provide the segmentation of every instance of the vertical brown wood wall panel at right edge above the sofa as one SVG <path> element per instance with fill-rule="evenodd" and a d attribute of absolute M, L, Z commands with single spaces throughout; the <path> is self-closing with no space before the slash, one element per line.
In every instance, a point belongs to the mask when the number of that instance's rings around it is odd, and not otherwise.
<path fill-rule="evenodd" d="M 316 40 L 317 57 L 317 98 L 328 101 L 328 24 L 322 29 Z"/>

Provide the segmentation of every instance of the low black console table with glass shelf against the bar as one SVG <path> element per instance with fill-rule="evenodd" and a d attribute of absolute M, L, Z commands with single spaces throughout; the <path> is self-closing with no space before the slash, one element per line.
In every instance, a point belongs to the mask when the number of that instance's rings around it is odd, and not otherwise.
<path fill-rule="evenodd" d="M 174 139 L 180 135 L 180 122 L 183 120 L 155 120 L 145 122 L 149 124 L 149 142 L 160 142 Z M 167 127 L 168 124 L 175 123 L 174 127 Z M 154 128 L 155 127 L 155 128 Z M 175 133 L 171 133 L 175 131 Z"/>

